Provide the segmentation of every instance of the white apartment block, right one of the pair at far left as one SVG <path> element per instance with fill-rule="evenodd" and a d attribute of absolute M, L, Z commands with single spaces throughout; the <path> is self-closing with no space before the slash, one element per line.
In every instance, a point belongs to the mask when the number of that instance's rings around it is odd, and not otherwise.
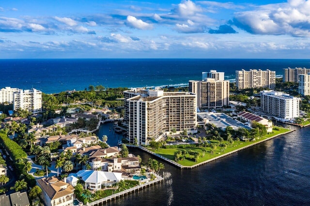
<path fill-rule="evenodd" d="M 14 110 L 21 108 L 33 114 L 42 112 L 42 92 L 35 88 L 20 89 L 14 93 Z"/>

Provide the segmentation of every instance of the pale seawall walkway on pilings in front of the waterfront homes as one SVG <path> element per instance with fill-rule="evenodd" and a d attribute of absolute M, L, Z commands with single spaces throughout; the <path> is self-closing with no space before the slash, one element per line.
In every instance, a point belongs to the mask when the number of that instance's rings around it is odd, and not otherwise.
<path fill-rule="evenodd" d="M 162 180 L 164 180 L 164 177 L 161 177 L 161 176 L 156 175 L 156 174 L 154 174 L 154 175 L 156 176 L 156 179 L 154 179 L 152 181 L 145 182 L 145 183 L 143 183 L 141 185 L 138 185 L 136 187 L 129 188 L 127 190 L 124 190 L 124 191 L 112 194 L 112 195 L 110 195 L 108 197 L 101 198 L 100 200 L 96 200 L 96 201 L 93 201 L 91 203 L 87 203 L 87 205 L 84 205 L 84 206 L 102 206 L 103 203 L 108 203 L 108 202 L 111 202 L 112 200 L 115 201 L 117 198 L 121 198 L 121 197 L 124 197 L 124 195 L 131 194 L 133 192 L 135 193 L 136 191 L 143 190 L 144 188 L 147 188 L 147 187 L 150 187 L 152 185 L 158 184 Z"/>

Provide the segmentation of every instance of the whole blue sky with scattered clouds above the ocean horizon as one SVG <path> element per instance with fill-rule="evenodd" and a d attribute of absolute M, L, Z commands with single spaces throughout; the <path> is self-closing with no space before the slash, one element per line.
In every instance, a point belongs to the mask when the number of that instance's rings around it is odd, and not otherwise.
<path fill-rule="evenodd" d="M 2 0 L 0 58 L 310 59 L 310 0 Z"/>

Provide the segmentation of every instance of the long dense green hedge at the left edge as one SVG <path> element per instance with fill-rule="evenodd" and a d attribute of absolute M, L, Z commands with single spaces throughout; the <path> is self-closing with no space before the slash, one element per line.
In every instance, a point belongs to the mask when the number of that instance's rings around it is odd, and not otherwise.
<path fill-rule="evenodd" d="M 27 154 L 23 148 L 11 140 L 3 131 L 0 131 L 0 143 L 8 151 L 14 162 L 17 162 L 19 159 L 27 158 Z"/>

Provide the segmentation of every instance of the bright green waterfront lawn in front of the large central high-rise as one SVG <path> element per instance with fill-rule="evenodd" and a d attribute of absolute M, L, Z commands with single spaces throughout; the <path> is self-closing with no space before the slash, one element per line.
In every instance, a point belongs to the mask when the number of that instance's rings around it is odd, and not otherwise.
<path fill-rule="evenodd" d="M 266 134 L 264 137 L 260 138 L 259 140 L 253 141 L 253 142 L 243 142 L 243 141 L 237 142 L 237 141 L 234 141 L 233 145 L 228 145 L 228 147 L 224 151 L 221 151 L 222 148 L 217 146 L 217 149 L 213 155 L 211 155 L 211 148 L 210 147 L 203 147 L 203 146 L 202 147 L 196 147 L 195 145 L 193 145 L 193 147 L 184 147 L 184 148 L 169 148 L 169 149 L 160 148 L 159 150 L 155 150 L 155 151 L 153 150 L 153 151 L 159 155 L 162 155 L 162 156 L 172 160 L 172 161 L 174 161 L 174 152 L 176 152 L 176 151 L 189 150 L 189 149 L 192 151 L 197 151 L 200 153 L 200 157 L 199 157 L 199 160 L 197 162 L 195 162 L 194 159 L 190 159 L 188 157 L 188 155 L 186 156 L 185 160 L 178 162 L 179 164 L 182 164 L 183 166 L 192 166 L 192 165 L 195 165 L 197 163 L 210 160 L 212 158 L 215 158 L 217 156 L 231 152 L 233 150 L 236 150 L 236 149 L 239 149 L 242 147 L 246 147 L 248 145 L 252 145 L 256 142 L 263 141 L 264 139 L 267 139 L 269 137 L 275 136 L 275 135 L 280 134 L 280 133 L 288 132 L 288 131 L 290 131 L 290 130 L 286 129 L 286 128 L 275 127 L 273 129 L 273 133 Z M 210 140 L 210 141 L 211 141 L 211 143 L 215 143 L 215 144 L 218 143 L 216 140 Z M 226 143 L 226 141 L 224 141 L 223 143 Z M 202 149 L 206 149 L 206 151 L 207 151 L 207 152 L 204 152 L 204 156 L 203 156 L 203 150 Z"/>

